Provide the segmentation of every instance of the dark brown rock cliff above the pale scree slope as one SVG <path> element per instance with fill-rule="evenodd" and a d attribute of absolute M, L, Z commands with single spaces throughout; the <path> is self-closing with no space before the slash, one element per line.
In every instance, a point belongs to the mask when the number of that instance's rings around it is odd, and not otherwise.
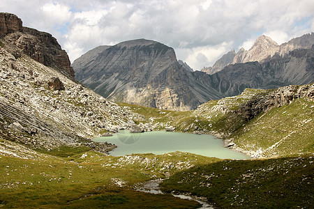
<path fill-rule="evenodd" d="M 9 13 L 0 13 L 0 29 L 3 47 L 16 58 L 27 54 L 35 61 L 74 77 L 68 54 L 51 34 L 23 27 L 22 20 Z"/>

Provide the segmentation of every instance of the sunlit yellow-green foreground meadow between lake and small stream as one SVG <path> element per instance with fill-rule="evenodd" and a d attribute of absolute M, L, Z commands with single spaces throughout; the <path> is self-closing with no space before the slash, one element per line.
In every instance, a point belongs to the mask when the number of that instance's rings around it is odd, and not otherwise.
<path fill-rule="evenodd" d="M 66 146 L 43 153 L 50 155 L 33 159 L 0 156 L 3 208 L 197 208 L 200 205 L 195 201 L 132 188 L 164 178 L 165 173 L 219 161 L 189 153 L 112 157 Z"/>

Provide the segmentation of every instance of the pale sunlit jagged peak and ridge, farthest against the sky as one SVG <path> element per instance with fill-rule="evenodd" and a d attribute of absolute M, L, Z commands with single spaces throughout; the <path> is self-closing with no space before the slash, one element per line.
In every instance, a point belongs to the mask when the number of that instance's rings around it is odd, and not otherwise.
<path fill-rule="evenodd" d="M 203 68 L 202 72 L 207 72 L 207 74 L 212 75 L 219 70 L 223 70 L 225 66 L 231 63 L 246 63 L 252 61 L 263 62 L 264 59 L 269 58 L 269 56 L 274 56 L 278 53 L 280 56 L 285 56 L 294 49 L 309 49 L 314 44 L 314 33 L 305 34 L 298 38 L 293 38 L 288 42 L 278 45 L 274 40 L 268 36 L 260 36 L 254 42 L 253 46 L 249 50 L 241 48 L 237 54 L 235 54 L 232 59 L 233 53 L 228 52 L 224 54 L 213 67 Z"/>

